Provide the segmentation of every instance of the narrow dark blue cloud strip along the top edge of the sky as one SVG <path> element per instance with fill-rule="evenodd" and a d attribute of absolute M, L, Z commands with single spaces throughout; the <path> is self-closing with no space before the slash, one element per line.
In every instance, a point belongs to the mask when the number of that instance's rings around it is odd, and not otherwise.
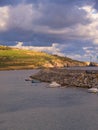
<path fill-rule="evenodd" d="M 17 5 L 20 3 L 33 3 L 33 4 L 59 4 L 59 5 L 84 5 L 84 4 L 91 4 L 95 2 L 96 4 L 98 3 L 97 0 L 0 0 L 0 6 L 5 6 L 5 5 Z M 96 5 L 97 7 L 97 5 Z"/>

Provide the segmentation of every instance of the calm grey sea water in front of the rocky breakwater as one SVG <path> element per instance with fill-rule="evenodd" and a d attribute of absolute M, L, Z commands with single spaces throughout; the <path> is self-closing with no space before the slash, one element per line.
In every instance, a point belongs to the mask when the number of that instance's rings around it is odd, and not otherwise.
<path fill-rule="evenodd" d="M 0 71 L 0 130 L 98 130 L 98 94 L 26 82 L 35 72 Z"/>

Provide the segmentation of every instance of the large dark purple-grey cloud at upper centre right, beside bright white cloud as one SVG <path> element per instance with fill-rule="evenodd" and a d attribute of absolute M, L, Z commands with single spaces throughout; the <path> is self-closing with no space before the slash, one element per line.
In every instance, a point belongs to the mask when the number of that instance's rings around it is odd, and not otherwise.
<path fill-rule="evenodd" d="M 74 24 L 86 24 L 86 12 L 79 10 L 76 6 L 48 4 L 42 10 L 42 16 L 36 24 L 46 25 L 51 28 L 64 28 Z"/>

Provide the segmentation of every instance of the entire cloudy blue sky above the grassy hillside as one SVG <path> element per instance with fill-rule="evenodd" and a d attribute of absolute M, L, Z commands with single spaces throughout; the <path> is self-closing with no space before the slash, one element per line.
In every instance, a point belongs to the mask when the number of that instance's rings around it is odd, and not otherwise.
<path fill-rule="evenodd" d="M 98 0 L 0 0 L 0 44 L 98 62 Z"/>

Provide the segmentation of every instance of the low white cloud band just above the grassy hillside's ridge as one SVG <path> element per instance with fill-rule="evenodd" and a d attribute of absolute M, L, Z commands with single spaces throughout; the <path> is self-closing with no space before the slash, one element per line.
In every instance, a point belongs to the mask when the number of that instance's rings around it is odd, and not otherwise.
<path fill-rule="evenodd" d="M 19 49 L 26 49 L 26 50 L 36 50 L 40 52 L 46 52 L 49 54 L 56 54 L 60 56 L 67 56 L 73 59 L 78 59 L 80 61 L 85 60 L 92 56 L 91 51 L 93 52 L 92 47 L 84 47 L 81 48 L 81 46 L 75 47 L 71 46 L 71 44 L 59 44 L 59 43 L 52 43 L 51 46 L 26 46 L 23 42 L 17 42 L 15 46 L 11 46 L 13 48 L 19 48 Z M 92 49 L 92 50 L 89 50 Z M 83 53 L 83 51 L 85 53 Z M 88 53 L 89 52 L 89 53 Z"/>

